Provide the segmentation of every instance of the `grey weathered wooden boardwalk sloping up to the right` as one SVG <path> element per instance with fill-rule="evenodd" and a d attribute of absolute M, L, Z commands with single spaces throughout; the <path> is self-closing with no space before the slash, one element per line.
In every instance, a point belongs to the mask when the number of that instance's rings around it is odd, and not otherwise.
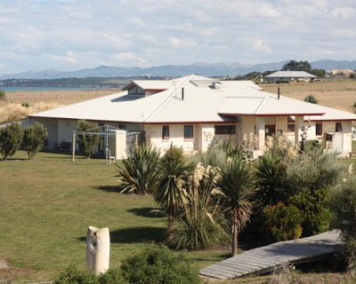
<path fill-rule="evenodd" d="M 336 230 L 299 240 L 274 243 L 251 249 L 200 270 L 200 275 L 215 279 L 261 275 L 289 264 L 328 258 L 341 251 L 344 244 Z"/>

